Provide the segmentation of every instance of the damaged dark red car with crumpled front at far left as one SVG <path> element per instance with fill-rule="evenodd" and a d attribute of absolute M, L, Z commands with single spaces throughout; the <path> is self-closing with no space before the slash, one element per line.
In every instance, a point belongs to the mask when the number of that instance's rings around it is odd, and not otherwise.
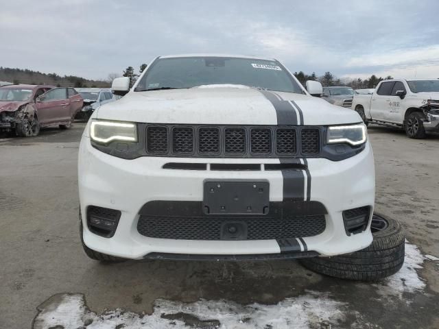
<path fill-rule="evenodd" d="M 41 127 L 71 127 L 83 99 L 74 88 L 16 84 L 0 88 L 0 132 L 36 136 Z"/>

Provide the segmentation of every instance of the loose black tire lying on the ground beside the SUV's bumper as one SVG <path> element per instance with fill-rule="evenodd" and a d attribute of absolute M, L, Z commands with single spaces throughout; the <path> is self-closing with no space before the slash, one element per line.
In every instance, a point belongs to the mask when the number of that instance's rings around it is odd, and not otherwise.
<path fill-rule="evenodd" d="M 335 278 L 373 281 L 391 276 L 404 263 L 405 235 L 398 221 L 374 214 L 372 244 L 358 252 L 333 257 L 300 260 L 311 271 Z"/>

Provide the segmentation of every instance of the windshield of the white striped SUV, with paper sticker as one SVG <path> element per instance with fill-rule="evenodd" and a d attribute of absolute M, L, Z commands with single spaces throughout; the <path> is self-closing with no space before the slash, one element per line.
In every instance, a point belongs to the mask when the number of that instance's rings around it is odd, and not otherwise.
<path fill-rule="evenodd" d="M 212 84 L 240 84 L 303 93 L 291 75 L 276 61 L 226 57 L 158 59 L 142 77 L 136 91 Z"/>

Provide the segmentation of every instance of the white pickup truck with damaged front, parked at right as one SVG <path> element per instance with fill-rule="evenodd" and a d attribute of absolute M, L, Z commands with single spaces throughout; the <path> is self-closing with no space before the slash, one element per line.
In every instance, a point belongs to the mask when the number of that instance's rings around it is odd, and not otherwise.
<path fill-rule="evenodd" d="M 372 95 L 354 95 L 352 109 L 366 125 L 401 127 L 410 138 L 439 132 L 439 79 L 381 81 Z"/>

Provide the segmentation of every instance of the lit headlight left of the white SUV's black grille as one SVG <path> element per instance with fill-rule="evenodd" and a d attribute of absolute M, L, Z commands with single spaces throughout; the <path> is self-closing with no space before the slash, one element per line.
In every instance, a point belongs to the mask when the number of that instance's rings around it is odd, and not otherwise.
<path fill-rule="evenodd" d="M 103 144 L 112 141 L 137 142 L 137 125 L 130 122 L 93 120 L 90 137 L 92 141 Z"/>

